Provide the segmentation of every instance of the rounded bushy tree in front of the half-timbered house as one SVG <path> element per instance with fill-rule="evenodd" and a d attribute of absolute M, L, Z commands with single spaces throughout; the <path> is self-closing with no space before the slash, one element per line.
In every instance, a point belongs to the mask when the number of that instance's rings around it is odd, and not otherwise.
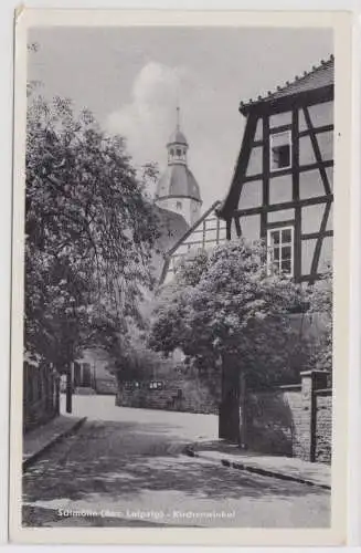
<path fill-rule="evenodd" d="M 309 293 L 267 275 L 265 260 L 261 242 L 243 239 L 183 260 L 159 294 L 151 347 L 179 347 L 203 369 L 237 367 L 251 385 L 295 377 L 308 352 L 289 313 L 301 312 Z"/>

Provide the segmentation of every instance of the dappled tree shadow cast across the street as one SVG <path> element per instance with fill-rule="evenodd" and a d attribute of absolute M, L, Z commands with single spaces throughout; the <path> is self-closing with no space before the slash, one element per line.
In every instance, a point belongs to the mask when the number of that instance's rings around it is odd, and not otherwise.
<path fill-rule="evenodd" d="M 135 498 L 179 491 L 193 499 L 318 495 L 298 483 L 247 474 L 181 455 L 187 439 L 164 424 L 91 421 L 23 477 L 26 502 Z"/>

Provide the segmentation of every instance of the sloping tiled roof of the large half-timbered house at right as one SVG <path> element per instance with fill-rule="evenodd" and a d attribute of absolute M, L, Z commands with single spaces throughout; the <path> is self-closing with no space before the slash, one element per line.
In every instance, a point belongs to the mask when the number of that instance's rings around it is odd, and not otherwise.
<path fill-rule="evenodd" d="M 321 60 L 319 65 L 314 65 L 310 71 L 305 71 L 301 76 L 296 75 L 294 81 L 287 81 L 283 86 L 277 86 L 277 90 L 265 96 L 258 96 L 257 100 L 249 100 L 248 102 L 241 102 L 240 112 L 246 115 L 253 107 L 259 104 L 273 102 L 278 98 L 291 96 L 301 92 L 308 92 L 323 86 L 333 85 L 335 82 L 335 56 L 325 61 Z"/>

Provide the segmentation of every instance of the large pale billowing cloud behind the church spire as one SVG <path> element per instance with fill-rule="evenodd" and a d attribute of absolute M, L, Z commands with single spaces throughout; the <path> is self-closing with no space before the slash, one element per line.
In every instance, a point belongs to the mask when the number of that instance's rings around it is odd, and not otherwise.
<path fill-rule="evenodd" d="M 106 127 L 126 138 L 136 165 L 157 161 L 163 168 L 178 104 L 190 144 L 189 165 L 205 208 L 225 196 L 240 147 L 237 102 L 224 95 L 224 88 L 201 82 L 185 66 L 150 62 L 135 79 L 130 102 L 108 116 Z"/>

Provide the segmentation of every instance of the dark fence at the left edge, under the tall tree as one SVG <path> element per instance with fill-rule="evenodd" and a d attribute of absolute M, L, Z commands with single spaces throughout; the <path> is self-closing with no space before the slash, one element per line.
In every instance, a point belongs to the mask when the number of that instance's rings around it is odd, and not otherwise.
<path fill-rule="evenodd" d="M 60 379 L 47 365 L 23 364 L 23 431 L 59 415 Z"/>

